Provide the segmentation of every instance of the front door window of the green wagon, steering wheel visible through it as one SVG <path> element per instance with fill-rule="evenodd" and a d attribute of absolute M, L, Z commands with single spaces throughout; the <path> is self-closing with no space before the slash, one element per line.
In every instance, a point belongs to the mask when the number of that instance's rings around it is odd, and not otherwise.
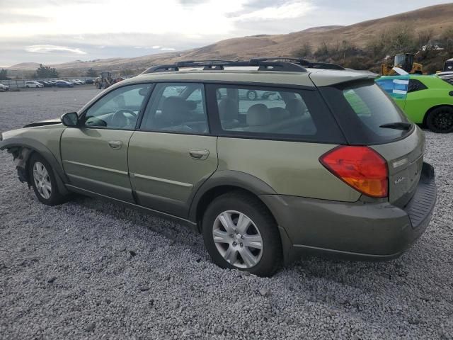
<path fill-rule="evenodd" d="M 85 113 L 87 128 L 134 130 L 151 84 L 122 86 L 96 101 Z"/>

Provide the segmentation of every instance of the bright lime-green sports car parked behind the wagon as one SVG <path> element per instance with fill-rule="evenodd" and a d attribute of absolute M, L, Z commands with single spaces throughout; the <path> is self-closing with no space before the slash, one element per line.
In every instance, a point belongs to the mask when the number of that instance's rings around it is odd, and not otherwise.
<path fill-rule="evenodd" d="M 433 132 L 453 132 L 453 72 L 380 77 L 376 82 L 414 123 Z"/>

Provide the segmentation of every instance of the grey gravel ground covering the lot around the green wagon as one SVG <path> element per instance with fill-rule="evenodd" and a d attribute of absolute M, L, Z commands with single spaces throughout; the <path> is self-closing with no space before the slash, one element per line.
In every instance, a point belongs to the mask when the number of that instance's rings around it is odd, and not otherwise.
<path fill-rule="evenodd" d="M 0 130 L 97 93 L 0 94 Z M 0 338 L 453 339 L 453 134 L 426 135 L 438 201 L 412 249 L 384 263 L 306 258 L 273 278 L 222 270 L 200 235 L 121 205 L 42 205 L 2 152 Z"/>

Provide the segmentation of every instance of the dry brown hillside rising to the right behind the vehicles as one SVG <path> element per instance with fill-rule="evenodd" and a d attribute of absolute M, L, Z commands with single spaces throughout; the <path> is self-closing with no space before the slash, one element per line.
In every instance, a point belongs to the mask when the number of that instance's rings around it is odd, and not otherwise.
<path fill-rule="evenodd" d="M 290 56 L 304 44 L 313 49 L 319 45 L 341 43 L 348 41 L 351 45 L 365 47 L 367 42 L 374 39 L 379 33 L 391 30 L 396 25 L 410 26 L 415 34 L 423 31 L 432 31 L 436 37 L 442 30 L 452 26 L 453 3 L 420 8 L 415 11 L 387 16 L 350 26 L 323 26 L 309 28 L 300 32 L 283 35 L 254 35 L 243 38 L 222 40 L 212 45 L 185 50 L 183 52 L 162 53 L 135 58 L 111 58 L 91 62 L 69 62 L 50 65 L 56 67 L 62 74 L 68 72 L 84 72 L 86 69 L 122 69 L 139 70 L 152 64 L 175 62 L 178 60 L 205 60 L 205 59 L 242 59 L 256 56 Z M 17 66 L 17 65 L 16 65 Z M 10 67 L 10 70 L 16 69 Z M 25 67 L 21 67 L 25 69 Z M 33 68 L 35 69 L 35 68 Z"/>

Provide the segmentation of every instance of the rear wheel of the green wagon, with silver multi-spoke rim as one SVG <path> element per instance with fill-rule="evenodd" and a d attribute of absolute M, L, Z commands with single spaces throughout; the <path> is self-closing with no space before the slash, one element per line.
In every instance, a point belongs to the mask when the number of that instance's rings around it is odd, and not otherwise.
<path fill-rule="evenodd" d="M 233 191 L 214 199 L 203 216 L 202 235 L 212 261 L 221 268 L 272 276 L 282 261 L 275 219 L 248 193 Z"/>

